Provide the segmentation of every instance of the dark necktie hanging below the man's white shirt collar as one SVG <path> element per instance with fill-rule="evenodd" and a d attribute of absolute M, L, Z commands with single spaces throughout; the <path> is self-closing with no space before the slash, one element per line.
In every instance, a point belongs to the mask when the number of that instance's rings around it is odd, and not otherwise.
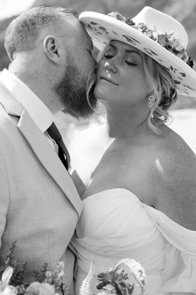
<path fill-rule="evenodd" d="M 52 122 L 52 125 L 46 130 L 48 132 L 48 135 L 50 135 L 50 137 L 55 140 L 55 142 L 58 145 L 58 156 L 61 159 L 61 162 L 63 163 L 63 165 L 65 166 L 65 168 L 67 169 L 67 171 L 69 170 L 69 165 L 70 165 L 70 155 L 68 153 L 68 150 L 66 149 L 66 146 L 62 140 L 62 136 L 61 133 L 58 131 L 58 128 L 56 127 L 56 125 L 54 124 L 54 122 Z M 64 157 L 64 155 L 66 156 L 66 159 Z"/>

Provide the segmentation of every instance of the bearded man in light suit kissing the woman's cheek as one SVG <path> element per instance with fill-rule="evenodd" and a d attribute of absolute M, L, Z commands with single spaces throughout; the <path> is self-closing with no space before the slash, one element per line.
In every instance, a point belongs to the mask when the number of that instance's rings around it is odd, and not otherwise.
<path fill-rule="evenodd" d="M 11 64 L 0 74 L 0 266 L 5 248 L 17 240 L 14 259 L 27 261 L 27 283 L 44 262 L 55 270 L 62 260 L 73 294 L 75 255 L 67 246 L 82 204 L 53 115 L 91 114 L 92 41 L 75 10 L 40 6 L 9 24 L 5 48 Z"/>

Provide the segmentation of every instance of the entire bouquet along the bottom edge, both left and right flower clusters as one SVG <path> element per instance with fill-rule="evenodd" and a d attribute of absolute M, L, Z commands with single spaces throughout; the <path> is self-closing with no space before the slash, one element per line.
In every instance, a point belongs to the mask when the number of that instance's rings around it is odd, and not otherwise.
<path fill-rule="evenodd" d="M 13 251 L 16 247 L 16 241 L 12 242 L 5 250 L 3 255 L 5 266 L 0 267 L 2 273 L 0 280 L 0 295 L 65 295 L 66 287 L 63 283 L 62 276 L 64 275 L 64 263 L 58 262 L 55 272 L 47 271 L 47 263 L 44 263 L 40 272 L 35 271 L 35 281 L 30 285 L 23 283 L 24 273 L 26 270 L 26 261 L 23 264 L 13 261 Z M 99 284 L 97 289 L 103 289 L 109 293 L 117 295 L 131 295 L 134 285 L 126 283 L 128 273 L 120 266 L 125 264 L 129 267 L 130 273 L 136 280 L 140 288 L 139 294 L 144 294 L 144 285 L 146 283 L 146 275 L 140 263 L 133 259 L 122 259 L 118 262 L 115 268 L 110 268 L 107 273 L 99 273 Z M 91 266 L 87 277 L 82 282 L 80 294 L 78 295 L 93 295 L 90 289 L 91 280 L 94 274 L 94 261 L 91 258 Z M 105 292 L 98 295 L 105 295 Z"/>

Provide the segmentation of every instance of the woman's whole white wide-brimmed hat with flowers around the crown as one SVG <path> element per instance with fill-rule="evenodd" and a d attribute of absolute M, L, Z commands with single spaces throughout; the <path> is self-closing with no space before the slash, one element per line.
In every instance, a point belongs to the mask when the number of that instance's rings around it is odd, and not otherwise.
<path fill-rule="evenodd" d="M 178 94 L 196 97 L 196 72 L 186 53 L 188 36 L 173 17 L 145 6 L 135 17 L 82 12 L 80 22 L 100 51 L 117 40 L 137 48 L 162 65 L 172 76 Z"/>

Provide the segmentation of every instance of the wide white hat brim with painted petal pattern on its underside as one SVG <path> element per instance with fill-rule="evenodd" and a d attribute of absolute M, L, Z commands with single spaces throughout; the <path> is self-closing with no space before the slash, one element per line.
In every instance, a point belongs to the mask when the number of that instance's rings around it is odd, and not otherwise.
<path fill-rule="evenodd" d="M 112 40 L 136 47 L 169 71 L 179 94 L 196 97 L 196 72 L 158 42 L 118 19 L 97 12 L 82 12 L 79 20 L 100 51 Z"/>

